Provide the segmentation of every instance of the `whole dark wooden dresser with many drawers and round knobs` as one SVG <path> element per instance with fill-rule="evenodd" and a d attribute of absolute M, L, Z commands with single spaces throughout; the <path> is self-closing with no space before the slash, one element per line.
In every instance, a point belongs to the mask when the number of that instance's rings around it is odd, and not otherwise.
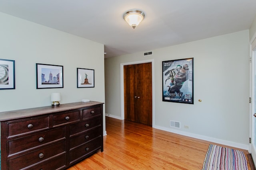
<path fill-rule="evenodd" d="M 0 113 L 2 170 L 62 170 L 103 152 L 101 102 Z"/>

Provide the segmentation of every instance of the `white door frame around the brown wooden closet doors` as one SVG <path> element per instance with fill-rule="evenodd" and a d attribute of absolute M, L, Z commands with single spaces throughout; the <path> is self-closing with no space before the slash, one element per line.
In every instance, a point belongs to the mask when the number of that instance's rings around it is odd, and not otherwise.
<path fill-rule="evenodd" d="M 155 88 L 154 88 L 154 60 L 134 61 L 120 64 L 121 82 L 121 119 L 124 120 L 124 66 L 132 64 L 151 63 L 152 65 L 152 127 L 155 126 Z"/>

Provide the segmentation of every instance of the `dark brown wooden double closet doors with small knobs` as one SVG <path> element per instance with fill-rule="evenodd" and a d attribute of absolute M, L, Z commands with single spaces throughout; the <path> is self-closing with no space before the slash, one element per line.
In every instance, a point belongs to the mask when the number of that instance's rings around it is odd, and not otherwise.
<path fill-rule="evenodd" d="M 124 66 L 124 119 L 152 126 L 152 64 Z"/>

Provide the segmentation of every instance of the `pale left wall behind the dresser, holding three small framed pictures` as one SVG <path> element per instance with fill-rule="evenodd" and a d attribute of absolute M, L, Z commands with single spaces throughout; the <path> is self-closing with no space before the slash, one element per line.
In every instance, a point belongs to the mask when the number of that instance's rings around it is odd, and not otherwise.
<path fill-rule="evenodd" d="M 0 21 L 0 58 L 15 60 L 16 76 L 16 89 L 0 90 L 0 112 L 50 106 L 52 92 L 60 104 L 105 102 L 103 44 L 3 13 Z M 62 65 L 64 88 L 36 89 L 36 63 Z M 76 68 L 95 70 L 95 88 L 76 88 Z"/>

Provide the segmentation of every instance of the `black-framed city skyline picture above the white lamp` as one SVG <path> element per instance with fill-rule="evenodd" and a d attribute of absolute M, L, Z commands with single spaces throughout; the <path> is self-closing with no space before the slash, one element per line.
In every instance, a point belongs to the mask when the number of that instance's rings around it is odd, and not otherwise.
<path fill-rule="evenodd" d="M 63 66 L 36 63 L 36 88 L 63 88 Z"/>

